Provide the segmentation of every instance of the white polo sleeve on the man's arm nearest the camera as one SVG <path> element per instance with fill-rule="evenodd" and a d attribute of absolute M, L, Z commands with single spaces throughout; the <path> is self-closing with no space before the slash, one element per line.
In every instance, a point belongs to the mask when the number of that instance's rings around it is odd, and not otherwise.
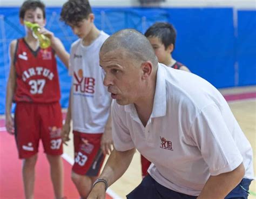
<path fill-rule="evenodd" d="M 225 120 L 236 122 L 233 117 L 224 119 L 217 105 L 211 104 L 201 110 L 190 130 L 213 176 L 232 171 L 242 163 L 242 155 Z"/>

